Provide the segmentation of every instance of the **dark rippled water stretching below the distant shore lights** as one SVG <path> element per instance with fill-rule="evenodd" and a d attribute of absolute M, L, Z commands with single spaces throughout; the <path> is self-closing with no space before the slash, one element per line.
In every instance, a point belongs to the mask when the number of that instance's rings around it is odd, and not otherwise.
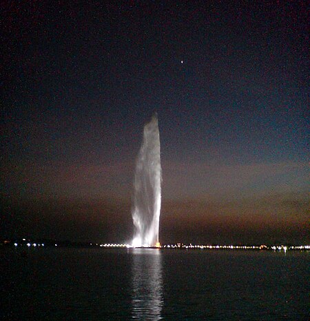
<path fill-rule="evenodd" d="M 1 249 L 1 320 L 309 320 L 309 253 Z"/>

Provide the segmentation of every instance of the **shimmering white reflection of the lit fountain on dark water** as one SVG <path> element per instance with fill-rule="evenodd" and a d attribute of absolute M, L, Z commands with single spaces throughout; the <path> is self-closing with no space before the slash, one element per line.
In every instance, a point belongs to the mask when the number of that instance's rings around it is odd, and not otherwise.
<path fill-rule="evenodd" d="M 162 320 L 161 251 L 135 249 L 132 253 L 132 318 L 136 320 Z"/>

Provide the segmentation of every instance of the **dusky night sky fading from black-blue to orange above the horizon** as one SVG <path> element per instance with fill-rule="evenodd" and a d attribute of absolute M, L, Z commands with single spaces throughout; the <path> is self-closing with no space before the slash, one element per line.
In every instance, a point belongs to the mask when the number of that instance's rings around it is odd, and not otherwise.
<path fill-rule="evenodd" d="M 309 242 L 306 3 L 2 1 L 0 236 L 130 242 L 157 111 L 162 243 Z"/>

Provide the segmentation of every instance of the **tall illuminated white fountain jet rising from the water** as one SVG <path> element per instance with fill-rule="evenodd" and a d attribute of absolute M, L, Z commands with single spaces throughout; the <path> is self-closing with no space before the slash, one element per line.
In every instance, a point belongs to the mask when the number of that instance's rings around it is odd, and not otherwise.
<path fill-rule="evenodd" d="M 161 213 L 161 143 L 158 118 L 144 126 L 143 142 L 136 160 L 134 175 L 134 239 L 132 246 L 158 245 L 159 215 Z"/>

